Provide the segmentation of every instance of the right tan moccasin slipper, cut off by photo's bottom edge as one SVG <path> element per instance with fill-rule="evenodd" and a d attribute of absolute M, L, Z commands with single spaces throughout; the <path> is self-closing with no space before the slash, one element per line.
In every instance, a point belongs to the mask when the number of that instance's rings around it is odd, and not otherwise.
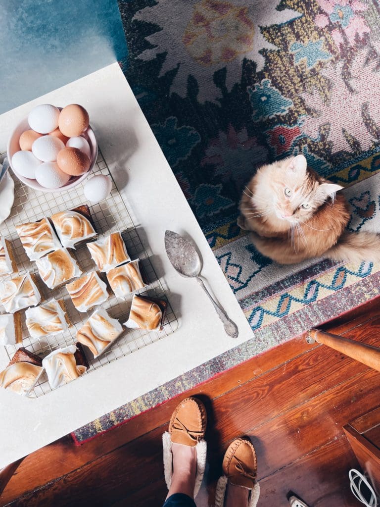
<path fill-rule="evenodd" d="M 260 496 L 260 487 L 256 481 L 256 451 L 249 440 L 237 439 L 225 451 L 223 476 L 218 480 L 215 494 L 215 507 L 223 507 L 227 483 L 251 490 L 249 507 L 256 507 Z"/>

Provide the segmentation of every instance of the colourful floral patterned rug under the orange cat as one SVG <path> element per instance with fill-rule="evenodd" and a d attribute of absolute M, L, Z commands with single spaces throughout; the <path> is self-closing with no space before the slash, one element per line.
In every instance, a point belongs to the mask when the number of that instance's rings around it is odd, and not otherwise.
<path fill-rule="evenodd" d="M 380 231 L 379 3 L 119 0 L 119 8 L 129 50 L 122 69 L 255 339 L 81 428 L 79 442 L 375 297 L 380 278 L 371 263 L 278 266 L 236 225 L 257 166 L 303 153 L 348 187 L 349 229 Z"/>

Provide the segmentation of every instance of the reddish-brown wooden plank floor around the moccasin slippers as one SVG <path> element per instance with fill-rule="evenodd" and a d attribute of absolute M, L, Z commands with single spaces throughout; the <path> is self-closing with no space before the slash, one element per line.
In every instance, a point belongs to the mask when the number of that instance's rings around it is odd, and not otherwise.
<path fill-rule="evenodd" d="M 380 298 L 324 329 L 380 346 Z M 380 373 L 298 338 L 189 394 L 201 397 L 209 415 L 209 465 L 198 505 L 213 504 L 223 451 L 247 435 L 258 455 L 259 507 L 286 507 L 290 490 L 314 507 L 359 507 L 347 478 L 357 462 L 342 427 L 379 405 Z M 6 487 L 0 507 L 161 505 L 166 495 L 161 436 L 179 400 L 82 447 L 65 437 L 32 453 Z"/>

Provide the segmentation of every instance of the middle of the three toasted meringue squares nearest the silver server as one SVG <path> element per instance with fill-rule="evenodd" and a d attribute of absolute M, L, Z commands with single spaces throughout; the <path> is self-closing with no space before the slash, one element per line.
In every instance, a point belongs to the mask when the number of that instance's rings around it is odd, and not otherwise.
<path fill-rule="evenodd" d="M 107 280 L 119 299 L 126 299 L 132 292 L 147 286 L 141 277 L 138 259 L 108 271 Z"/>

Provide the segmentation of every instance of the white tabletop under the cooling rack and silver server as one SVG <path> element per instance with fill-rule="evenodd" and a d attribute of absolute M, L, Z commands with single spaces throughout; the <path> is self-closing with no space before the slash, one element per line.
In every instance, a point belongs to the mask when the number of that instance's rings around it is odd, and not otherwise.
<path fill-rule="evenodd" d="M 1 151 L 13 126 L 41 103 L 80 103 L 88 110 L 108 167 L 154 253 L 156 272 L 170 289 L 179 329 L 37 399 L 0 389 L 0 468 L 253 336 L 119 65 L 104 67 L 1 115 Z M 237 323 L 238 339 L 225 335 L 197 282 L 174 271 L 164 250 L 166 229 L 187 233 L 196 242 L 203 257 L 202 275 Z M 0 367 L 7 363 L 3 349 Z"/>

